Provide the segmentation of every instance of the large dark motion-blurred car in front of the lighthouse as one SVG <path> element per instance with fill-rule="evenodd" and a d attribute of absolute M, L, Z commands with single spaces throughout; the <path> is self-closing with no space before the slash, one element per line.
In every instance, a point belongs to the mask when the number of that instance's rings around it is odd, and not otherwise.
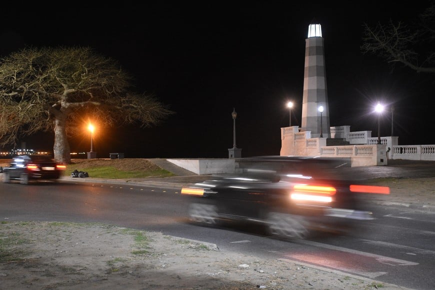
<path fill-rule="evenodd" d="M 349 166 L 337 158 L 243 158 L 239 173 L 214 175 L 181 188 L 181 195 L 191 198 L 187 214 L 198 224 L 254 222 L 284 238 L 306 238 L 318 230 L 345 232 L 356 221 L 373 219 L 361 193 L 389 194 L 389 187 L 351 180 Z"/>

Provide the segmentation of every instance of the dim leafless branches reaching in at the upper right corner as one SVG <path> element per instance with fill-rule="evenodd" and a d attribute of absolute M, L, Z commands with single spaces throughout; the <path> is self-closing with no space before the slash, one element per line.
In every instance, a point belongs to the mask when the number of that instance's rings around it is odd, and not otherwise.
<path fill-rule="evenodd" d="M 435 72 L 435 2 L 415 23 L 389 20 L 363 27 L 362 53 L 377 54 L 393 66 L 400 63 L 416 72 Z"/>

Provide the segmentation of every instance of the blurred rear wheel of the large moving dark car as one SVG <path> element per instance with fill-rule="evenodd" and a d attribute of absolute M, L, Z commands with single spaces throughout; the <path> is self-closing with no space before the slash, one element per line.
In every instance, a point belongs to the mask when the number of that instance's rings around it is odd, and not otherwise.
<path fill-rule="evenodd" d="M 285 238 L 306 238 L 308 222 L 300 215 L 269 212 L 267 223 L 271 235 Z"/>

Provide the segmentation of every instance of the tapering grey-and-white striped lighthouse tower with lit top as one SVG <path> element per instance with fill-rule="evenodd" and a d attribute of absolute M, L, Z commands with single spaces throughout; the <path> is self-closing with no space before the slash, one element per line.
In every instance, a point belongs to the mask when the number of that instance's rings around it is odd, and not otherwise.
<path fill-rule="evenodd" d="M 302 131 L 311 138 L 330 137 L 323 37 L 320 24 L 309 24 L 305 39 L 305 70 L 302 95 Z"/>

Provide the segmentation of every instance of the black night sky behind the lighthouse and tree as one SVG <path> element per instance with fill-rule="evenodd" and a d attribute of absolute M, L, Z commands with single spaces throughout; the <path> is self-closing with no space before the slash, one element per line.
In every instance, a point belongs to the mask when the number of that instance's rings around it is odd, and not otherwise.
<path fill-rule="evenodd" d="M 226 158 L 233 145 L 233 108 L 242 157 L 279 155 L 288 100 L 294 103 L 292 125 L 301 123 L 311 22 L 321 24 L 324 38 L 331 126 L 371 130 L 375 137 L 372 110 L 381 101 L 394 106 L 399 144 L 435 144 L 433 74 L 401 66 L 391 71 L 383 59 L 360 51 L 364 22 L 409 21 L 430 1 L 148 2 L 44 7 L 15 1 L 2 8 L 1 56 L 26 45 L 90 46 L 119 61 L 135 77 L 137 91 L 154 93 L 175 111 L 151 128 L 97 128 L 97 157 L 124 152 L 125 157 Z M 381 135 L 390 134 L 391 114 L 385 112 Z M 52 150 L 53 135 L 24 141 L 27 148 Z M 88 151 L 89 133 L 70 139 L 70 146 Z"/>

